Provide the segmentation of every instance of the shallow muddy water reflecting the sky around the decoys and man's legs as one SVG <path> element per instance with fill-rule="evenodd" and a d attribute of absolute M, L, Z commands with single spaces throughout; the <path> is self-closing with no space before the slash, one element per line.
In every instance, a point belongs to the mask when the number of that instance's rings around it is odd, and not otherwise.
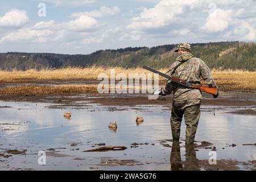
<path fill-rule="evenodd" d="M 57 103 L 0 102 L 0 170 L 174 169 L 170 159 L 171 106 L 77 104 L 84 107 L 71 105 L 63 109 Z M 63 114 L 69 110 L 72 118 L 68 120 Z M 227 110 L 236 108 L 201 106 L 196 135 L 199 142 L 196 144 L 201 144 L 201 141 L 212 144 L 209 148 L 198 148 L 195 158 L 208 161 L 209 152 L 216 147 L 217 160 L 240 162 L 236 163 L 239 169 L 255 169 L 250 162 L 256 160 L 256 146 L 243 144 L 256 143 L 256 117 L 229 114 Z M 137 115 L 144 118 L 141 125 L 135 122 Z M 116 131 L 108 128 L 113 121 L 117 122 Z M 183 121 L 178 154 L 182 162 L 189 160 L 185 155 L 184 139 Z M 126 146 L 127 149 L 83 152 L 102 147 L 103 143 L 105 146 Z M 11 154 L 8 150 L 26 151 Z M 39 151 L 46 152 L 46 165 L 38 164 Z M 195 169 L 209 168 L 199 165 Z"/>

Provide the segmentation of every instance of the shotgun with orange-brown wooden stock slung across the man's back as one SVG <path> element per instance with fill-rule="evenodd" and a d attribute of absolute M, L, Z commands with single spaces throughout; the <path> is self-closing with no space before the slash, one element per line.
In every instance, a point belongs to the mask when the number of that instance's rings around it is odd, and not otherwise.
<path fill-rule="evenodd" d="M 164 78 L 167 78 L 168 80 L 170 79 L 170 80 L 176 82 L 177 84 L 183 85 L 183 86 L 185 86 L 187 88 L 199 89 L 199 90 L 201 90 L 203 92 L 212 94 L 213 96 L 217 96 L 217 92 L 218 92 L 218 88 L 217 87 L 209 87 L 209 86 L 203 86 L 203 85 L 200 85 L 200 86 L 193 85 L 193 84 L 191 84 L 189 82 L 186 82 L 185 80 L 181 80 L 178 77 L 175 77 L 175 76 L 172 76 L 172 75 L 166 75 L 164 73 L 156 71 L 155 69 L 152 69 L 152 68 L 149 68 L 149 67 L 146 67 L 146 66 L 143 66 L 142 68 L 147 69 L 150 72 L 156 73 L 156 74 L 158 74 L 158 75 L 160 75 L 160 76 L 162 76 Z"/>

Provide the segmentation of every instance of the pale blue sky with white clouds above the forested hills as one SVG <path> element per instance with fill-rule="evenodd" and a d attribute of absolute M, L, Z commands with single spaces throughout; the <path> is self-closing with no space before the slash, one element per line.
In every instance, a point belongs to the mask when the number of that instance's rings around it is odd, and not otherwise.
<path fill-rule="evenodd" d="M 1 1 L 0 52 L 256 42 L 255 0 Z"/>

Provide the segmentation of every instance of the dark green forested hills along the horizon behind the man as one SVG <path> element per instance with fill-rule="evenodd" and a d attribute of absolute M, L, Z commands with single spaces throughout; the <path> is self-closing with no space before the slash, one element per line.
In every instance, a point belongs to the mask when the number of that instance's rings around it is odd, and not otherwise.
<path fill-rule="evenodd" d="M 0 53 L 1 70 L 27 70 L 65 67 L 124 67 L 147 65 L 152 68 L 168 68 L 175 61 L 177 44 L 156 47 L 127 47 L 106 49 L 89 55 L 64 55 L 55 53 Z M 204 60 L 210 68 L 243 69 L 255 71 L 256 44 L 245 42 L 217 42 L 191 44 L 194 56 Z"/>

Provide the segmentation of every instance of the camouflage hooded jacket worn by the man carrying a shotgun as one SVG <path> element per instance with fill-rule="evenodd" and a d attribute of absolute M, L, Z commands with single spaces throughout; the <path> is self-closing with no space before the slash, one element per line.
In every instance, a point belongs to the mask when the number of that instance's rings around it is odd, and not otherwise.
<path fill-rule="evenodd" d="M 187 52 L 177 57 L 176 61 L 171 65 L 171 68 L 174 68 L 180 62 L 184 63 L 176 69 L 173 76 L 179 77 L 182 80 L 196 85 L 201 84 L 200 77 L 202 77 L 208 86 L 217 86 L 209 67 L 204 63 L 203 60 L 196 58 L 191 53 Z M 168 80 L 165 88 L 162 89 L 162 93 L 171 94 L 172 91 L 174 92 L 174 101 L 202 99 L 201 90 L 186 88 L 183 85 L 179 85 L 171 80 Z"/>

